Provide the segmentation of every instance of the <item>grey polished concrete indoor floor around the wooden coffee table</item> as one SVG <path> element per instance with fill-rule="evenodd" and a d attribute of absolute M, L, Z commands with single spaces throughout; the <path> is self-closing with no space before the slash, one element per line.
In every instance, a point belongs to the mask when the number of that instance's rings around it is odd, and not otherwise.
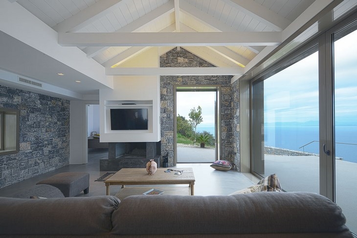
<path fill-rule="evenodd" d="M 103 182 L 96 182 L 97 178 L 107 172 L 99 172 L 99 159 L 108 158 L 107 149 L 89 149 L 88 163 L 82 165 L 68 165 L 60 169 L 26 179 L 19 183 L 6 186 L 0 189 L 0 196 L 12 196 L 29 186 L 35 185 L 56 173 L 62 172 L 88 172 L 89 173 L 89 193 L 83 192 L 77 196 L 97 196 L 106 195 L 106 187 Z M 239 173 L 236 170 L 218 171 L 210 167 L 211 163 L 179 163 L 176 168 L 193 168 L 195 174 L 195 195 L 228 195 L 237 190 L 255 184 L 258 180 L 250 173 Z M 111 195 L 115 195 L 120 186 L 111 186 Z"/>

